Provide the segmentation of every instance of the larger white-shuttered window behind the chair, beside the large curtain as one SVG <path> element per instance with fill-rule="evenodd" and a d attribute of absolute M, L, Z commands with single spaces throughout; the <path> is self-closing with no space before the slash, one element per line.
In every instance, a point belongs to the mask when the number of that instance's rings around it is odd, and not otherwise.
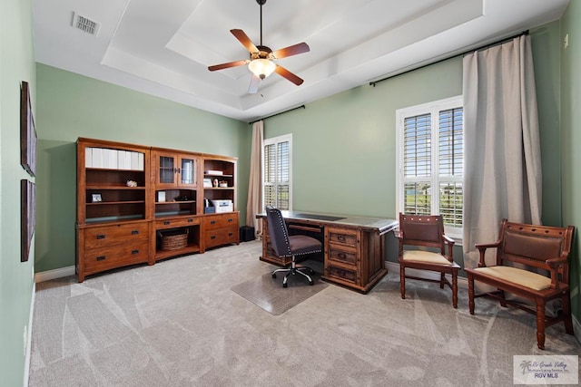
<path fill-rule="evenodd" d="M 441 214 L 446 233 L 462 237 L 462 97 L 397 111 L 398 212 Z"/>

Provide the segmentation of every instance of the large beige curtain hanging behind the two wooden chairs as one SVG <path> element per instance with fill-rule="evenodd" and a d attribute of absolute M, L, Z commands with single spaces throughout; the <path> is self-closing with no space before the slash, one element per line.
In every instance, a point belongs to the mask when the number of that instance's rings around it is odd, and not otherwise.
<path fill-rule="evenodd" d="M 464 57 L 464 263 L 502 218 L 541 223 L 541 158 L 530 36 Z M 488 259 L 491 257 L 487 256 Z"/>

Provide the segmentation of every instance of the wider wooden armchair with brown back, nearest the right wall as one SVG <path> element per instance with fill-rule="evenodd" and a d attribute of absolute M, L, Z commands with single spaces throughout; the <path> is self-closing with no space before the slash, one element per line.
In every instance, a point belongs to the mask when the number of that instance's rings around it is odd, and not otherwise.
<path fill-rule="evenodd" d="M 502 306 L 512 305 L 537 315 L 537 346 L 540 349 L 545 349 L 547 326 L 563 321 L 566 333 L 573 334 L 567 257 L 574 230 L 573 226 L 535 226 L 503 219 L 495 243 L 476 245 L 480 253 L 478 267 L 465 269 L 468 273 L 470 314 L 474 314 L 474 298 L 487 295 L 497 298 Z M 485 252 L 488 248 L 497 249 L 496 266 L 486 265 Z M 539 273 L 542 271 L 547 275 Z M 475 280 L 497 290 L 475 295 Z M 507 300 L 505 292 L 532 300 L 536 310 Z M 563 311 L 555 317 L 547 316 L 545 305 L 556 298 L 561 298 Z"/>

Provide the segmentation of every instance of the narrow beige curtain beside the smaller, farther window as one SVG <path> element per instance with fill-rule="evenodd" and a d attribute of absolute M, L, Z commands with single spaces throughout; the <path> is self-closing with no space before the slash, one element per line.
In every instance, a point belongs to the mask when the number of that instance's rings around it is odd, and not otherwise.
<path fill-rule="evenodd" d="M 246 205 L 246 226 L 254 227 L 257 238 L 262 236 L 262 223 L 256 214 L 262 212 L 262 141 L 264 138 L 264 123 L 257 121 L 252 124 L 251 173 L 248 181 L 248 204 Z"/>

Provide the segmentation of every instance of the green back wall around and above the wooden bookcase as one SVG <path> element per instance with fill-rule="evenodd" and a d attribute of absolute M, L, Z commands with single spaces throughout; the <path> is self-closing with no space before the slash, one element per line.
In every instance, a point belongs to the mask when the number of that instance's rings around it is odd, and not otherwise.
<path fill-rule="evenodd" d="M 238 157 L 245 218 L 251 127 L 179 103 L 37 64 L 36 272 L 74 266 L 78 137 Z"/>

